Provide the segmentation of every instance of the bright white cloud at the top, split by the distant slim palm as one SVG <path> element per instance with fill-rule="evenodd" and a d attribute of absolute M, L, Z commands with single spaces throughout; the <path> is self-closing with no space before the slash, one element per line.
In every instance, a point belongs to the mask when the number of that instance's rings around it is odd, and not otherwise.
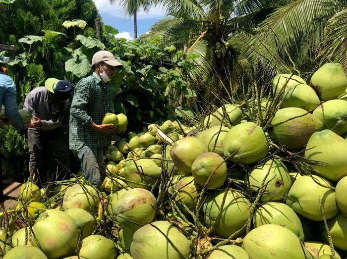
<path fill-rule="evenodd" d="M 94 0 L 96 7 L 98 8 L 101 14 L 108 14 L 113 17 L 129 17 L 126 15 L 119 6 L 119 2 L 116 0 L 114 4 L 110 3 L 110 0 Z M 141 19 L 150 19 L 150 18 L 160 18 L 164 17 L 165 13 L 160 6 L 154 6 L 149 9 L 148 12 L 143 10 L 139 11 L 137 18 Z"/>

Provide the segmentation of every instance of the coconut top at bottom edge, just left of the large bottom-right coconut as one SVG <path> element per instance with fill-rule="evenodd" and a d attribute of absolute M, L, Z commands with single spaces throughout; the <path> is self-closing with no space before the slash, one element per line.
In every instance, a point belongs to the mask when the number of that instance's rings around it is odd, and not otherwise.
<path fill-rule="evenodd" d="M 247 252 L 235 245 L 220 246 L 207 259 L 249 259 Z"/>

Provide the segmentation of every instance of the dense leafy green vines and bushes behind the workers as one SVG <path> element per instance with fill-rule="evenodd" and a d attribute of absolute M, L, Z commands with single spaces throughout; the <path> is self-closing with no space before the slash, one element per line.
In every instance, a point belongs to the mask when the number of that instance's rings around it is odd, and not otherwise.
<path fill-rule="evenodd" d="M 151 42 L 115 39 L 117 30 L 104 24 L 99 41 L 94 30 L 98 17 L 92 0 L 16 0 L 8 5 L 5 19 L 0 19 L 0 42 L 17 47 L 16 53 L 2 54 L 12 55 L 8 68 L 16 83 L 19 108 L 28 92 L 43 86 L 49 77 L 68 79 L 75 85 L 91 74 L 89 64 L 99 50 L 113 52 L 123 64 L 113 78 L 112 95 L 116 112 L 128 115 L 130 131 L 173 117 L 181 94 L 187 99 L 195 96 L 182 79 L 194 69 L 194 55 L 177 52 L 173 46 L 159 48 Z M 62 26 L 64 21 L 75 19 L 87 22 L 87 26 Z M 67 142 L 68 114 L 66 118 Z M 4 126 L 0 138 L 4 140 L 0 143 L 0 152 L 6 157 L 4 172 L 24 179 L 29 156 L 25 136 Z"/>

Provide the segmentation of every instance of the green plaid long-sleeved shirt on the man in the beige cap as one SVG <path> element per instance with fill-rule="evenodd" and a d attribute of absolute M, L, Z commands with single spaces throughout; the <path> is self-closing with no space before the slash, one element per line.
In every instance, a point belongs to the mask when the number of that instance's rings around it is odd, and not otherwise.
<path fill-rule="evenodd" d="M 104 84 L 96 73 L 81 79 L 74 89 L 70 108 L 71 150 L 78 150 L 83 145 L 91 149 L 110 145 L 112 135 L 90 127 L 92 122 L 100 125 L 107 112 L 115 112 L 110 86 Z"/>

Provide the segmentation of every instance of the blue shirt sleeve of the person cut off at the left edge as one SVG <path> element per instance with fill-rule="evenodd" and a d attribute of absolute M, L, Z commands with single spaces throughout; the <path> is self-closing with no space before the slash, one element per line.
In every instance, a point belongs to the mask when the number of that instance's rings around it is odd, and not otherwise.
<path fill-rule="evenodd" d="M 24 122 L 17 107 L 16 87 L 12 79 L 8 79 L 3 105 L 5 106 L 6 117 L 17 130 L 24 128 Z"/>

